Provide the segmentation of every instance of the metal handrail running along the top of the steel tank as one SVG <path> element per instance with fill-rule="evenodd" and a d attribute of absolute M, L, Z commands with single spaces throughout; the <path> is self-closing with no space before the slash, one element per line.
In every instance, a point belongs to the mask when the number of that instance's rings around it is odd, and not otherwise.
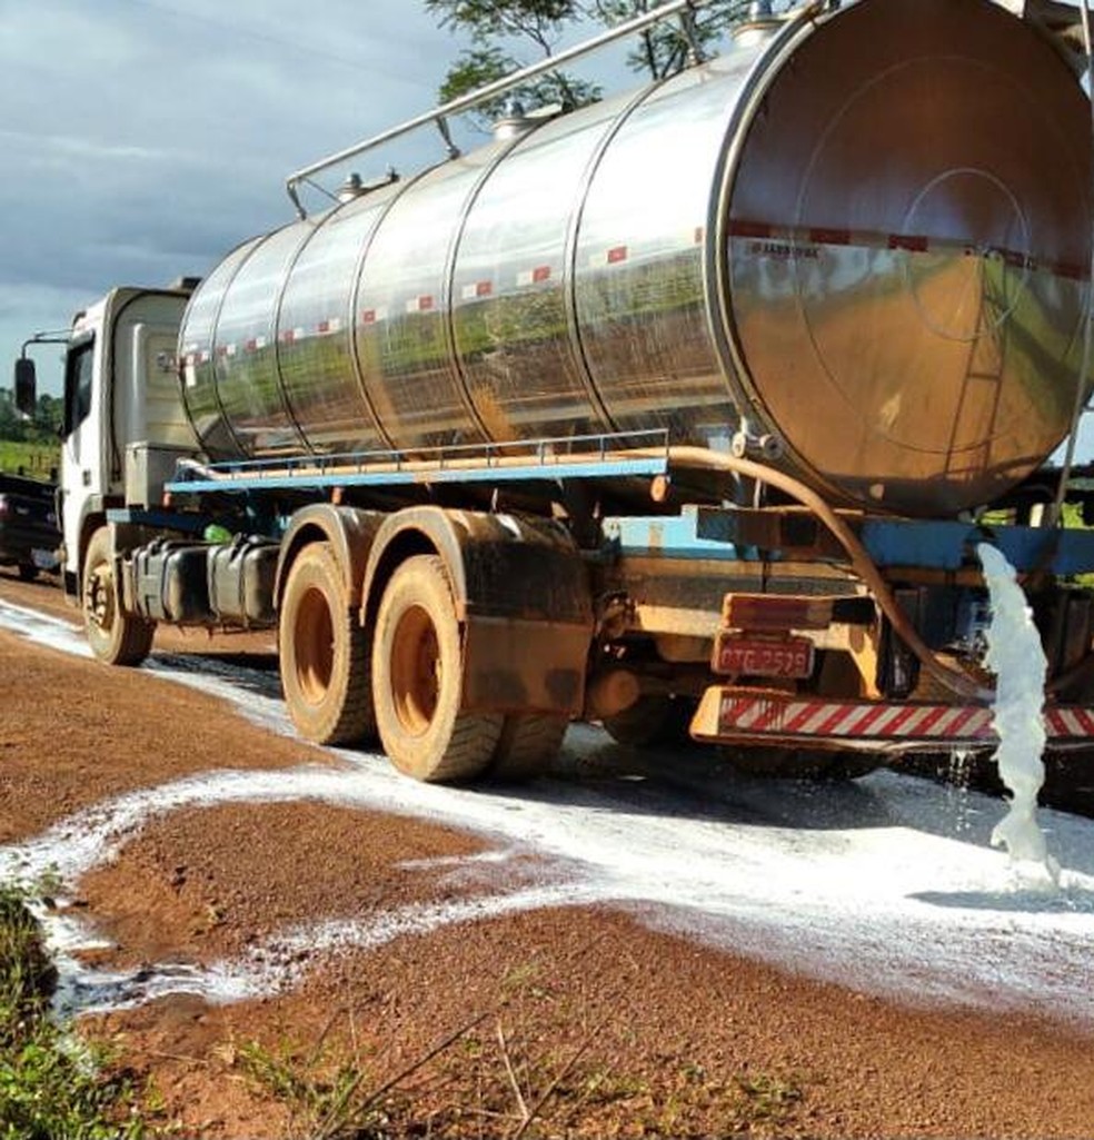
<path fill-rule="evenodd" d="M 288 198 L 295 206 L 296 213 L 302 219 L 307 218 L 308 211 L 304 210 L 301 204 L 300 195 L 297 193 L 297 188 L 301 182 L 310 179 L 312 174 L 318 174 L 321 170 L 326 170 L 329 166 L 336 166 L 340 162 L 345 162 L 348 158 L 356 158 L 358 155 L 362 155 L 368 150 L 374 150 L 376 147 L 383 146 L 385 142 L 391 142 L 393 139 L 401 138 L 403 135 L 410 135 L 413 131 L 419 130 L 423 127 L 428 127 L 431 123 L 435 124 L 440 129 L 441 137 L 446 140 L 449 154 L 452 157 L 456 157 L 458 155 L 458 150 L 452 145 L 448 135 L 447 120 L 450 115 L 458 115 L 465 111 L 471 111 L 474 107 L 481 106 L 483 103 L 487 103 L 506 91 L 511 91 L 514 87 L 520 87 L 521 83 L 524 83 L 530 79 L 534 79 L 537 75 L 556 71 L 558 67 L 570 63 L 572 59 L 591 55 L 594 51 L 598 51 L 601 48 L 606 47 L 610 43 L 614 43 L 617 40 L 626 39 L 635 32 L 640 32 L 653 24 L 659 24 L 663 19 L 668 19 L 670 16 L 676 16 L 680 13 L 691 14 L 701 8 L 705 8 L 711 3 L 713 3 L 713 0 L 667 0 L 666 3 L 659 5 L 652 11 L 636 16 L 634 19 L 629 19 L 623 24 L 618 24 L 615 27 L 610 27 L 606 32 L 601 32 L 598 35 L 594 35 L 588 40 L 583 40 L 581 43 L 574 44 L 572 48 L 566 48 L 564 51 L 560 51 L 556 56 L 549 56 L 539 63 L 530 64 L 528 67 L 522 67 L 520 71 L 515 71 L 509 75 L 495 80 L 492 83 L 488 83 L 485 87 L 481 87 L 475 91 L 470 91 L 467 95 L 460 95 L 455 99 L 450 99 L 448 103 L 441 104 L 439 107 L 434 107 L 432 111 L 416 115 L 414 119 L 408 119 L 398 127 L 389 128 L 386 131 L 381 131 L 379 135 L 374 135 L 372 138 L 365 139 L 361 142 L 356 142 L 353 146 L 346 147 L 344 150 L 338 150 L 336 154 L 328 155 L 326 158 L 320 158 L 318 162 L 313 162 L 310 166 L 303 166 L 288 176 L 285 180 L 285 190 L 288 194 Z"/>

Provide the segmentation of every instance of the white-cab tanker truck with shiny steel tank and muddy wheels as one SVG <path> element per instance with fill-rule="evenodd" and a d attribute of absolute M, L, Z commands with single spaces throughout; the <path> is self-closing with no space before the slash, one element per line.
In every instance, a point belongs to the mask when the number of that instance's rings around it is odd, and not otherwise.
<path fill-rule="evenodd" d="M 855 776 L 995 746 L 988 542 L 1048 749 L 1088 747 L 1092 492 L 1045 463 L 1089 394 L 1091 106 L 1013 7 L 760 8 L 460 154 L 526 70 L 291 176 L 203 280 L 114 288 L 66 334 L 95 656 L 276 629 L 299 733 L 422 780 L 533 775 L 578 719 Z M 302 204 L 431 123 L 442 161 Z"/>

